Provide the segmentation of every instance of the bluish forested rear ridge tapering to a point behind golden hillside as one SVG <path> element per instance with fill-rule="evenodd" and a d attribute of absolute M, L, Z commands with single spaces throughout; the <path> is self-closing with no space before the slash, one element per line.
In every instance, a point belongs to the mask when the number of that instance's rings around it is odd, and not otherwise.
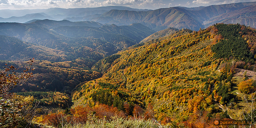
<path fill-rule="evenodd" d="M 115 42 L 114 45 L 122 49 L 135 45 L 136 42 L 140 42 L 142 39 L 155 32 L 140 23 L 134 23 L 129 26 L 116 26 L 112 24 L 104 25 L 99 28 L 87 26 L 60 26 L 53 30 L 56 33 L 72 38 L 93 37 L 108 42 Z M 126 43 L 124 44 L 119 40 L 123 40 Z"/>

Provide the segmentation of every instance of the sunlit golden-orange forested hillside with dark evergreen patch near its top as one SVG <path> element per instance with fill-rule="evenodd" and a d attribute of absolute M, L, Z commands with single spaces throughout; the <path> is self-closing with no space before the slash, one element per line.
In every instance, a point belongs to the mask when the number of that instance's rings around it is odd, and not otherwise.
<path fill-rule="evenodd" d="M 255 91 L 254 79 L 233 75 L 237 68 L 255 71 L 255 34 L 247 26 L 216 24 L 129 47 L 93 66 L 105 73 L 77 88 L 74 105 L 106 104 L 127 116 L 144 109 L 140 115 L 146 118 L 182 122 L 184 127 L 208 127 L 212 119 L 244 119 L 243 95 Z"/>

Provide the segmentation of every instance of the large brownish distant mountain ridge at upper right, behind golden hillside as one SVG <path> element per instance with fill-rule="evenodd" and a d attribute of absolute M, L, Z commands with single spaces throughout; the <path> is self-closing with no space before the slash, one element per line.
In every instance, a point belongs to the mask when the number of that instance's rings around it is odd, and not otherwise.
<path fill-rule="evenodd" d="M 135 22 L 140 22 L 149 28 L 154 30 L 162 30 L 163 28 L 189 28 L 192 30 L 199 30 L 199 28 L 205 28 L 216 22 L 211 21 L 224 21 L 221 18 L 233 17 L 232 12 L 238 14 L 247 14 L 255 12 L 256 2 L 245 3 L 231 3 L 223 5 L 211 5 L 207 7 L 170 7 L 161 8 L 152 11 L 128 11 L 128 10 L 110 10 L 98 17 L 88 18 L 89 21 L 100 22 L 103 24 L 117 24 L 127 25 Z M 248 8 L 248 9 L 247 9 Z M 227 16 L 221 17 L 224 14 Z M 253 15 L 253 14 L 252 14 Z M 236 19 L 236 17 L 233 17 Z M 253 18 L 253 16 L 247 15 L 246 18 Z M 215 20 L 214 20 L 215 19 Z M 254 19 L 254 18 L 253 18 Z M 209 20 L 209 21 L 207 21 Z M 232 20 L 234 21 L 234 20 Z M 252 20 L 254 21 L 254 20 Z M 207 23 L 205 23 L 207 22 Z M 227 21 L 225 23 L 244 23 L 237 20 L 236 22 Z M 253 22 L 249 22 L 245 25 L 256 27 Z"/>

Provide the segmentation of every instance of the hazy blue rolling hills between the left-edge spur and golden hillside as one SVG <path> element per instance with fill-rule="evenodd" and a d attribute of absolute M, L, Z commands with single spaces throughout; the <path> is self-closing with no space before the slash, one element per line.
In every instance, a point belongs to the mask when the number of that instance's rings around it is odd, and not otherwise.
<path fill-rule="evenodd" d="M 0 23 L 0 26 L 0 35 L 17 37 L 22 41 L 73 53 L 71 60 L 84 57 L 80 54 L 87 53 L 83 51 L 85 49 L 99 52 L 102 57 L 112 55 L 154 33 L 139 23 L 116 26 L 87 21 L 37 20 L 28 24 Z M 77 49 L 81 51 L 76 51 Z M 98 61 L 101 58 L 94 59 Z"/>

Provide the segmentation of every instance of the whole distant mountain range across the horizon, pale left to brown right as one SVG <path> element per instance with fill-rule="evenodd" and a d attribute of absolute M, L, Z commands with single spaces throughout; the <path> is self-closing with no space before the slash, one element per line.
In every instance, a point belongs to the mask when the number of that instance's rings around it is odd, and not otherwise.
<path fill-rule="evenodd" d="M 35 19 L 94 21 L 101 24 L 130 25 L 141 23 L 153 30 L 163 30 L 168 27 L 189 28 L 199 30 L 212 24 L 224 22 L 255 26 L 256 2 L 231 3 L 211 5 L 207 7 L 170 7 L 156 10 L 133 9 L 123 6 L 108 6 L 96 8 L 75 9 L 32 9 L 32 10 L 0 10 L 0 22 L 30 23 Z M 16 13 L 17 12 L 17 13 Z M 30 14 L 33 12 L 33 14 Z M 12 16 L 11 13 L 16 13 Z M 12 16 L 6 18 L 7 16 Z M 23 16 L 24 15 L 24 16 Z M 17 17 L 20 16 L 20 17 Z"/>

